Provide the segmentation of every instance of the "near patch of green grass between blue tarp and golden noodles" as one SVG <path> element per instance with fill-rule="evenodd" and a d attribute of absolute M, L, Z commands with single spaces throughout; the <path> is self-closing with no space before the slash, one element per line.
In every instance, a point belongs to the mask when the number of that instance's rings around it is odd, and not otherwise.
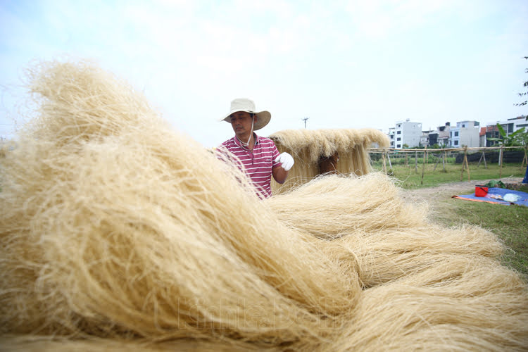
<path fill-rule="evenodd" d="M 508 247 L 502 258 L 503 264 L 528 280 L 528 207 L 458 199 L 449 199 L 445 203 L 436 221 L 449 226 L 461 222 L 478 225 L 494 232 Z"/>

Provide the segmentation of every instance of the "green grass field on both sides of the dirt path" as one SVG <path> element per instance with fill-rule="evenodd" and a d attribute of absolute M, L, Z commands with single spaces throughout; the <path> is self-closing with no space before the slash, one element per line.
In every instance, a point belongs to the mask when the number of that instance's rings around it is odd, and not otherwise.
<path fill-rule="evenodd" d="M 382 163 L 373 163 L 377 171 L 382 170 Z M 387 165 L 388 168 L 388 165 Z M 460 182 L 461 164 L 447 163 L 446 170 L 442 165 L 426 164 L 422 181 L 422 164 L 415 171 L 415 164 L 408 167 L 401 164 L 393 165 L 388 170 L 389 175 L 401 181 L 403 189 L 420 189 L 426 187 L 441 186 L 445 183 Z M 502 180 L 505 177 L 524 177 L 526 166 L 521 168 L 520 164 L 505 164 L 502 170 Z M 470 163 L 470 180 L 478 184 L 479 180 L 501 180 L 500 170 L 496 164 L 488 164 L 487 168 Z M 467 182 L 467 171 L 463 173 L 463 181 Z M 528 187 L 523 186 L 520 191 L 528 193 Z M 439 189 L 439 192 L 441 189 Z M 460 194 L 471 194 L 474 187 L 468 187 L 467 192 Z M 453 194 L 451 194 L 453 195 Z M 491 203 L 480 203 L 473 201 L 460 201 L 451 199 L 450 196 L 435 200 L 436 212 L 434 220 L 443 225 L 453 226 L 460 223 L 479 225 L 494 232 L 508 247 L 503 256 L 503 264 L 509 268 L 522 273 L 528 282 L 528 207 L 503 206 Z"/>

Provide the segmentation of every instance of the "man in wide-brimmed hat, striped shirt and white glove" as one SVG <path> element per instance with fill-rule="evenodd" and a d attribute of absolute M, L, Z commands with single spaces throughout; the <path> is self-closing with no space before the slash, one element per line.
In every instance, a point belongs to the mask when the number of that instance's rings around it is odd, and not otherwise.
<path fill-rule="evenodd" d="M 289 153 L 280 153 L 269 138 L 260 137 L 254 131 L 260 130 L 270 122 L 268 111 L 256 112 L 255 103 L 250 99 L 234 99 L 229 115 L 221 120 L 230 122 L 234 137 L 220 146 L 239 158 L 244 172 L 256 187 L 260 198 L 271 196 L 271 177 L 282 184 L 288 177 L 288 171 L 294 165 Z M 239 166 L 242 168 L 241 166 Z"/>

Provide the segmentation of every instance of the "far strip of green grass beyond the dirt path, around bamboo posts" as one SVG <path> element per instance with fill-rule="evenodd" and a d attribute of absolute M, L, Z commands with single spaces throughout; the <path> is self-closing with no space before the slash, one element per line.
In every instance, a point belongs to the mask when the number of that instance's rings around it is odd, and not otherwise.
<path fill-rule="evenodd" d="M 411 163 L 410 163 L 411 164 Z M 382 171 L 383 166 L 380 162 L 372 163 L 374 170 Z M 418 165 L 415 170 L 415 164 L 412 165 L 394 165 L 393 168 L 389 169 L 387 165 L 387 174 L 392 177 L 396 177 L 401 181 L 400 187 L 404 189 L 417 189 L 423 187 L 434 187 L 441 183 L 446 182 L 460 182 L 460 174 L 462 171 L 462 164 L 447 163 L 446 170 L 443 170 L 442 165 L 439 164 L 434 170 L 434 164 L 425 164 L 424 177 L 422 181 L 422 165 Z M 505 177 L 524 177 L 526 167 L 521 168 L 519 163 L 515 164 L 504 164 L 502 168 L 502 178 L 500 177 L 501 171 L 497 164 L 488 164 L 487 168 L 484 165 L 480 165 L 477 168 L 477 164 L 470 163 L 470 180 L 501 180 Z M 467 170 L 464 170 L 462 181 L 467 181 Z"/>

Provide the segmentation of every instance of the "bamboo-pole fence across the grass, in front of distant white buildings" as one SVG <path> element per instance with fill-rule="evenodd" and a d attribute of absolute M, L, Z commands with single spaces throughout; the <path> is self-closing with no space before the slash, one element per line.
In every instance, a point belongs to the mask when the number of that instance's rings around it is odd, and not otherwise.
<path fill-rule="evenodd" d="M 381 149 L 372 148 L 369 150 L 370 158 L 375 163 L 382 163 L 382 170 L 393 168 L 394 164 L 405 164 L 418 172 L 418 164 L 422 167 L 422 181 L 425 172 L 425 165 L 434 164 L 434 169 L 441 165 L 446 170 L 446 163 L 462 164 L 460 180 L 464 171 L 467 172 L 467 180 L 470 180 L 469 163 L 477 163 L 487 168 L 488 163 L 499 166 L 499 178 L 502 177 L 503 163 L 520 163 L 521 168 L 528 164 L 527 146 L 491 146 L 474 148 L 445 148 L 445 149 Z"/>

